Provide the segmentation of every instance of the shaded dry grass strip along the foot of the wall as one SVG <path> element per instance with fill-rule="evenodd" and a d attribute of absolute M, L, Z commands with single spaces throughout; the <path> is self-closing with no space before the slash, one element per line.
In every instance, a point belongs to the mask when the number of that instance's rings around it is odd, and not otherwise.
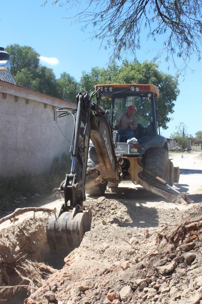
<path fill-rule="evenodd" d="M 0 176 L 0 211 L 16 206 L 32 206 L 33 196 L 38 193 L 40 196 L 50 195 L 54 188 L 58 188 L 65 178 L 66 172 L 70 170 L 71 161 L 69 155 L 63 154 L 61 160 L 54 158 L 52 168 L 45 174 L 19 174 L 15 177 Z M 18 201 L 19 203 L 15 203 Z"/>

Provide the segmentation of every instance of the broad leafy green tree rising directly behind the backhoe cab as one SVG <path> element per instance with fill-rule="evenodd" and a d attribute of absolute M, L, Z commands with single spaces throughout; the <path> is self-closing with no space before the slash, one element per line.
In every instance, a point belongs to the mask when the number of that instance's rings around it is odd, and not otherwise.
<path fill-rule="evenodd" d="M 159 88 L 160 96 L 156 98 L 157 124 L 167 129 L 167 123 L 171 120 L 169 114 L 174 112 L 174 102 L 179 95 L 178 76 L 165 74 L 158 70 L 158 64 L 137 60 L 129 62 L 124 60 L 120 66 L 110 64 L 107 68 L 93 67 L 89 73 L 82 72 L 82 91 L 93 91 L 94 85 L 112 83 L 136 83 L 153 84 Z M 103 104 L 109 109 L 109 102 Z"/>

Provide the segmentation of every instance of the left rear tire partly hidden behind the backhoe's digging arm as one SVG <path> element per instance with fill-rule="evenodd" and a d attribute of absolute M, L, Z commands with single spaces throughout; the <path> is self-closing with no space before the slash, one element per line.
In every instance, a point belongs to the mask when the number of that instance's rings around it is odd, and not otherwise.
<path fill-rule="evenodd" d="M 98 165 L 96 150 L 94 147 L 89 147 L 87 170 L 88 168 L 93 168 L 96 165 Z M 99 176 L 99 172 L 98 173 L 94 172 L 93 174 L 86 176 L 86 183 L 92 181 L 92 179 L 98 176 Z M 96 186 L 93 186 L 90 189 L 86 189 L 86 193 L 88 193 L 89 195 L 104 195 L 106 187 L 107 187 L 107 181 L 103 184 L 98 184 Z"/>

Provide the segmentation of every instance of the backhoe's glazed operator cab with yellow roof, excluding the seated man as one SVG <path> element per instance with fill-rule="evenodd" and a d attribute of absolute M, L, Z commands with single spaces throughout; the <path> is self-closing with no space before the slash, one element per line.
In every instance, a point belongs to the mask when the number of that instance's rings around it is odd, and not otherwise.
<path fill-rule="evenodd" d="M 144 143 L 157 134 L 154 97 L 159 96 L 158 88 L 154 85 L 140 84 L 96 85 L 95 89 L 98 88 L 101 93 L 100 105 L 103 108 L 110 108 L 109 122 L 116 144 L 115 152 L 140 155 Z M 126 138 L 123 131 L 120 135 L 116 126 L 117 118 L 126 112 L 130 105 L 135 108 L 133 115 L 136 116 L 138 123 L 131 139 Z"/>

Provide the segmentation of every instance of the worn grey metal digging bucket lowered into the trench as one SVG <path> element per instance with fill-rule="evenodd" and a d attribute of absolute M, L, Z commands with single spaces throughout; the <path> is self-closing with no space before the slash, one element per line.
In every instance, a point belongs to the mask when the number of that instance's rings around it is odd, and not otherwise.
<path fill-rule="evenodd" d="M 90 230 L 91 210 L 65 211 L 62 205 L 55 215 L 49 215 L 46 221 L 46 236 L 49 247 L 55 255 L 66 257 L 72 250 L 79 247 L 86 231 Z"/>

